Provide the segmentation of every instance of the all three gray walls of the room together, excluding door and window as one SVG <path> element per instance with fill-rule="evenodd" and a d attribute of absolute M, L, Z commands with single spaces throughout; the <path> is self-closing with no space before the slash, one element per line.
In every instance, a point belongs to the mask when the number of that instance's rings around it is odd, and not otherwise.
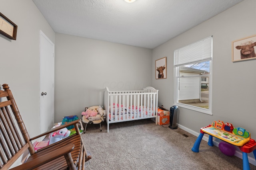
<path fill-rule="evenodd" d="M 153 86 L 159 105 L 173 104 L 174 50 L 213 35 L 213 115 L 180 107 L 179 125 L 192 133 L 214 120 L 244 127 L 256 138 L 256 60 L 232 63 L 231 42 L 256 34 L 256 2 L 244 0 L 154 50 L 56 34 L 32 0 L 1 0 L 0 12 L 18 25 L 17 40 L 0 35 L 0 84 L 8 83 L 31 136 L 39 133 L 39 33 L 55 43 L 55 122 L 103 105 L 103 88 Z M 167 78 L 155 60 L 167 57 Z M 132 69 L 131 69 L 132 68 Z M 10 70 L 12 69 L 12 70 Z M 22 91 L 24 90 L 24 91 Z"/>

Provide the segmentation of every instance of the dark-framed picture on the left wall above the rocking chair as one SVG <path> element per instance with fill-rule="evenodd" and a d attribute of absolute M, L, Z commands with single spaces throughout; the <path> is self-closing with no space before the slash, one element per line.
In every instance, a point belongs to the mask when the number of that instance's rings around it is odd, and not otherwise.
<path fill-rule="evenodd" d="M 0 12 L 0 34 L 16 40 L 18 26 Z"/>

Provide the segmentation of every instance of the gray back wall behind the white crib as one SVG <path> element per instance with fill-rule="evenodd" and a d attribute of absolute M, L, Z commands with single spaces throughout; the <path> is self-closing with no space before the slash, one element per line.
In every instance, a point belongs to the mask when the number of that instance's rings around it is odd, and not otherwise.
<path fill-rule="evenodd" d="M 104 105 L 104 88 L 142 90 L 152 83 L 152 50 L 56 33 L 55 122 Z"/>

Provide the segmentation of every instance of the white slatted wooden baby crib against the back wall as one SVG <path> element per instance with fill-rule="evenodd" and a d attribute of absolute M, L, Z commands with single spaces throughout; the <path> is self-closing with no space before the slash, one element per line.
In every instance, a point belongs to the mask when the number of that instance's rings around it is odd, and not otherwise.
<path fill-rule="evenodd" d="M 143 90 L 104 90 L 104 108 L 107 125 L 138 119 L 155 118 L 157 124 L 158 90 L 146 87 Z"/>

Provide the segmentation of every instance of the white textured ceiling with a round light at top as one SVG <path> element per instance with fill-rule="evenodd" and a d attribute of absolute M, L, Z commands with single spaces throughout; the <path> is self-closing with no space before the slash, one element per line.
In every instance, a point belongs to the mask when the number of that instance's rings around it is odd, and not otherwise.
<path fill-rule="evenodd" d="M 154 49 L 242 0 L 33 0 L 56 33 Z"/>

